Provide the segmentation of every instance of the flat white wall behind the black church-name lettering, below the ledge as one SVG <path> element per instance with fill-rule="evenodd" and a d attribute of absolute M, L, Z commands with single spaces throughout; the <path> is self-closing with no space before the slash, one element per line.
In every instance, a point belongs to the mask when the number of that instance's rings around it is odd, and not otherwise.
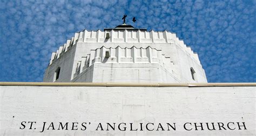
<path fill-rule="evenodd" d="M 0 135 L 255 135 L 255 87 L 97 87 L 0 86 Z M 21 130 L 22 121 L 36 121 Z M 43 122 L 56 130 L 42 131 Z M 78 130 L 57 130 L 58 123 L 79 123 Z M 80 130 L 81 123 L 87 125 Z M 242 123 L 247 130 L 186 131 L 185 123 Z M 104 131 L 96 131 L 102 123 Z M 106 131 L 105 123 L 126 123 L 127 130 Z M 176 123 L 176 131 L 130 131 L 129 123 Z M 136 125 L 134 125 L 136 127 Z M 215 126 L 218 128 L 218 126 Z M 166 126 L 164 126 L 166 129 Z M 226 127 L 227 128 L 227 127 Z"/>

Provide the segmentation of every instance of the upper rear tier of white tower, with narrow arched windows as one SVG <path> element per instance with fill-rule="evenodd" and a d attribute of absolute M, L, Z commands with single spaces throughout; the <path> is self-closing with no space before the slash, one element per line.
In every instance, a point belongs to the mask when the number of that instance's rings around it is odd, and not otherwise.
<path fill-rule="evenodd" d="M 106 39 L 106 33 L 110 33 L 110 38 Z M 182 40 L 179 40 L 174 33 L 163 31 L 141 31 L 141 30 L 105 30 L 105 31 L 87 31 L 75 33 L 75 36 L 71 40 L 67 40 L 63 47 L 59 47 L 59 50 L 53 52 L 50 65 L 45 70 L 44 81 L 52 82 L 53 75 L 57 67 L 61 68 L 60 77 L 57 82 L 70 82 L 70 81 L 83 81 L 83 82 L 94 82 L 93 80 L 76 80 L 78 76 L 77 64 L 84 64 L 90 57 L 92 51 L 97 52 L 97 49 L 101 47 L 116 49 L 120 48 L 132 48 L 135 47 L 140 49 L 143 47 L 151 47 L 152 49 L 161 50 L 165 57 L 169 57 L 169 62 L 172 63 L 170 67 L 173 73 L 177 73 L 174 77 L 178 80 L 167 81 L 167 83 L 207 83 L 205 72 L 200 64 L 197 53 L 194 53 L 190 47 L 186 47 Z M 119 52 L 120 53 L 120 52 Z M 119 58 L 121 54 L 115 57 Z M 93 56 L 97 57 L 97 56 Z M 102 56 L 103 57 L 103 56 Z M 104 58 L 101 58 L 104 59 Z M 91 59 L 92 60 L 92 59 Z M 116 60 L 116 59 L 114 59 Z M 135 62 L 133 62 L 135 63 Z M 105 63 L 103 63 L 105 64 Z M 149 65 L 150 66 L 150 65 Z M 196 71 L 196 80 L 193 80 L 190 73 L 190 68 L 193 67 Z M 126 67 L 127 68 L 127 67 Z M 149 67 L 150 69 L 150 67 Z M 91 68 L 93 70 L 93 68 Z M 82 72 L 82 71 L 81 71 Z M 91 72 L 89 72 L 91 73 Z M 104 75 L 97 75 L 103 78 Z M 122 75 L 124 76 L 124 75 Z M 158 77 L 151 78 L 146 82 L 152 83 L 163 77 L 163 74 L 158 74 Z M 84 75 L 88 77 L 88 75 Z M 98 78 L 99 78 L 98 77 Z M 104 79 L 106 82 L 111 82 L 108 78 Z M 116 82 L 124 82 L 124 80 L 115 80 Z M 144 80 L 133 80 L 133 82 L 140 83 L 145 82 Z M 125 82 L 130 82 L 127 79 Z M 165 83 L 165 82 L 162 82 Z"/>

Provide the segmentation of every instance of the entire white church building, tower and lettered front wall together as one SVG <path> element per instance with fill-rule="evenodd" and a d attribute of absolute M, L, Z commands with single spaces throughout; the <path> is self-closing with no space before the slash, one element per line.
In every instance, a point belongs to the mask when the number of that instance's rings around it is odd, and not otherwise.
<path fill-rule="evenodd" d="M 76 32 L 43 82 L 0 82 L 0 135 L 255 135 L 255 83 L 207 83 L 168 31 Z M 133 21 L 136 21 L 133 18 Z"/>

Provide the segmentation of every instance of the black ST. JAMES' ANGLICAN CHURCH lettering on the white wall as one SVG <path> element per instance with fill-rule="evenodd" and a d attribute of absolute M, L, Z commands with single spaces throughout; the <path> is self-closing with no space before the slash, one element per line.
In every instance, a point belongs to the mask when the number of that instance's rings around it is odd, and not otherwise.
<path fill-rule="evenodd" d="M 38 125 L 41 124 L 41 125 Z M 183 126 L 183 127 L 178 127 Z M 22 121 L 20 130 L 38 130 L 45 132 L 49 130 L 75 130 L 75 131 L 233 131 L 247 130 L 245 122 L 228 123 L 95 123 L 90 122 L 43 122 Z"/>

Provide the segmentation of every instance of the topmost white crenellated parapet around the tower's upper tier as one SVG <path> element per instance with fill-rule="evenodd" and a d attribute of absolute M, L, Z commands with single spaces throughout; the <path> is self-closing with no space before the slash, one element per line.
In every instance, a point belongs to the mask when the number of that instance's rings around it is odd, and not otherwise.
<path fill-rule="evenodd" d="M 167 31 L 146 31 L 146 30 L 97 30 L 97 31 L 80 31 L 76 32 L 75 36 L 67 40 L 67 42 L 59 47 L 59 50 L 52 53 L 50 64 L 56 58 L 62 56 L 73 45 L 77 43 L 170 43 L 176 44 L 183 49 L 192 58 L 194 58 L 199 64 L 199 58 L 197 53 L 194 53 L 190 47 L 184 44 L 183 40 L 180 40 L 175 33 Z"/>

